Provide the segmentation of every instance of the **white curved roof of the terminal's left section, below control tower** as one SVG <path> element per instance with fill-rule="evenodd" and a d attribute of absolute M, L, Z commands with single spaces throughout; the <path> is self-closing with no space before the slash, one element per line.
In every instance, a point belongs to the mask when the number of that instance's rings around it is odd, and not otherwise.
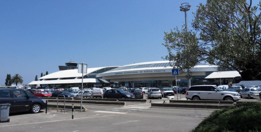
<path fill-rule="evenodd" d="M 119 66 L 111 66 L 111 67 L 119 67 Z M 87 74 L 95 72 L 95 71 L 103 69 L 103 68 L 110 68 L 110 67 L 87 68 Z M 86 74 L 84 74 L 84 76 L 85 75 Z M 82 73 L 78 73 L 78 69 L 72 69 L 72 70 L 63 70 L 63 71 L 53 72 L 51 74 L 42 76 L 39 79 L 67 78 L 67 77 L 81 77 L 81 76 L 82 76 Z"/>

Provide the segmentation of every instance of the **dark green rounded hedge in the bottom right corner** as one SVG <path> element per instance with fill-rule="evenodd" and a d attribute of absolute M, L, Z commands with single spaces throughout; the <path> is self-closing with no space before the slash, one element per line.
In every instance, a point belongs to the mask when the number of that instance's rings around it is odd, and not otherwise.
<path fill-rule="evenodd" d="M 213 111 L 192 132 L 260 132 L 261 102 L 247 102 Z"/>

